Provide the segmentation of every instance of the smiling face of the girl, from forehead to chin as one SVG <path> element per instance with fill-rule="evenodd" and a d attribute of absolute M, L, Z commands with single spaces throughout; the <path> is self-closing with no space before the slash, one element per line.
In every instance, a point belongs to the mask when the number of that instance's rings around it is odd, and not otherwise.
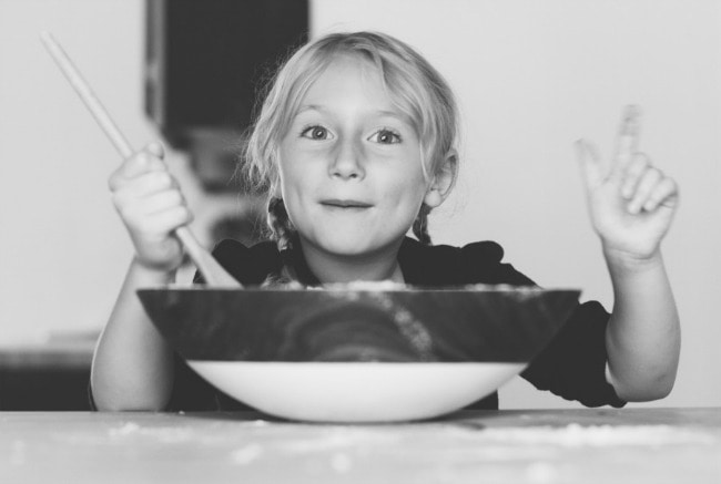
<path fill-rule="evenodd" d="M 307 91 L 281 143 L 280 175 L 303 243 L 334 256 L 397 248 L 428 186 L 414 127 L 356 58 L 334 61 Z"/>

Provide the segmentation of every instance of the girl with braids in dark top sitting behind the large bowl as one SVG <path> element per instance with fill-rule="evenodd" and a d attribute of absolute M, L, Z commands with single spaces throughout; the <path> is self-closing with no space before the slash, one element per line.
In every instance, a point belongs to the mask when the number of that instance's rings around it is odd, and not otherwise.
<path fill-rule="evenodd" d="M 385 280 L 414 286 L 531 285 L 495 243 L 431 246 L 428 213 L 457 172 L 456 105 L 444 79 L 388 35 L 331 34 L 278 71 L 246 151 L 268 194 L 273 241 L 225 240 L 215 257 L 244 285 Z M 659 245 L 676 184 L 637 152 L 638 113 L 626 113 L 603 166 L 578 143 L 588 206 L 615 289 L 613 313 L 579 305 L 524 377 L 586 405 L 666 397 L 680 328 Z M 191 214 L 158 144 L 111 176 L 113 202 L 135 247 L 93 360 L 101 410 L 213 410 L 242 405 L 199 379 L 149 321 L 135 289 L 173 281 L 183 251 L 172 230 Z M 413 228 L 418 241 L 405 237 Z M 494 394 L 476 408 L 497 409 Z"/>

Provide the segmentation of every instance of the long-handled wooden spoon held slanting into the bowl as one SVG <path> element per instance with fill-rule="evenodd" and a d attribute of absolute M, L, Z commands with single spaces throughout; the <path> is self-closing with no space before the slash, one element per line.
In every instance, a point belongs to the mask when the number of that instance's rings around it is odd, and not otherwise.
<path fill-rule="evenodd" d="M 130 143 L 128 143 L 125 136 L 120 132 L 113 120 L 110 117 L 108 111 L 100 103 L 90 89 L 90 85 L 82 78 L 60 44 L 53 39 L 50 32 L 42 32 L 40 39 L 123 159 L 132 156 L 134 151 L 130 146 Z M 205 250 L 187 227 L 179 227 L 175 230 L 175 236 L 181 240 L 187 255 L 201 271 L 209 286 L 242 287 L 242 285 L 233 276 L 227 274 L 217 260 Z"/>

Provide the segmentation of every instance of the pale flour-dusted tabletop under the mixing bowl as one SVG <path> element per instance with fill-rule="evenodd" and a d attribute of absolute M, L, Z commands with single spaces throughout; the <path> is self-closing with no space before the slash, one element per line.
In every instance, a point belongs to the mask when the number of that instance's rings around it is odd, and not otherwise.
<path fill-rule="evenodd" d="M 255 413 L 0 413 L 1 483 L 721 483 L 721 409 L 458 412 L 306 424 Z"/>

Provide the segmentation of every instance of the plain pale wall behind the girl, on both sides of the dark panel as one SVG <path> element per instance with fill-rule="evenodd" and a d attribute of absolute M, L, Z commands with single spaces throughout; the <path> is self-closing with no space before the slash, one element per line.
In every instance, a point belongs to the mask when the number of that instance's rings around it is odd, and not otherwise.
<path fill-rule="evenodd" d="M 106 195 L 116 155 L 42 51 L 52 30 L 136 144 L 141 0 L 0 0 L 0 341 L 99 328 L 130 257 Z M 713 0 L 314 0 L 314 35 L 374 29 L 418 48 L 456 90 L 463 178 L 437 243 L 495 239 L 546 287 L 612 305 L 571 143 L 611 151 L 626 103 L 681 185 L 664 256 L 683 323 L 677 387 L 651 405 L 721 405 L 721 18 Z M 184 159 L 171 156 L 180 173 Z M 192 179 L 191 203 L 205 209 Z M 520 379 L 501 406 L 565 406 Z"/>

